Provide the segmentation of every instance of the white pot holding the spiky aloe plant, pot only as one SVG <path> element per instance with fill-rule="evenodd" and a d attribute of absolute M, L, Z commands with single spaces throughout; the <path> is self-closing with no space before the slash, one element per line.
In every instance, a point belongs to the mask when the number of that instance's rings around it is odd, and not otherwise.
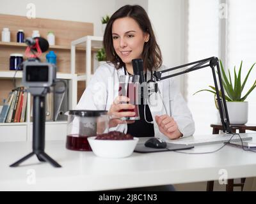
<path fill-rule="evenodd" d="M 248 102 L 228 102 L 228 117 L 230 124 L 246 124 L 248 121 Z"/>

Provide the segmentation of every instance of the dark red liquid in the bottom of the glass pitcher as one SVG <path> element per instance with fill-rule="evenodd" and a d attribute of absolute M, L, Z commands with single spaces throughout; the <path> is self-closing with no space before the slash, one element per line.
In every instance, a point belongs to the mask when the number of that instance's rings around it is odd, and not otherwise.
<path fill-rule="evenodd" d="M 92 151 L 87 138 L 88 136 L 68 135 L 66 148 L 78 151 Z"/>

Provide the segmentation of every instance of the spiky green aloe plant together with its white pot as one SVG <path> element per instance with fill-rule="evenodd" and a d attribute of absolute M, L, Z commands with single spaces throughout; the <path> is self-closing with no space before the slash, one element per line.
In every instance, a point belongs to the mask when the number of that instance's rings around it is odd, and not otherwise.
<path fill-rule="evenodd" d="M 232 78 L 230 75 L 230 69 L 228 69 L 228 77 L 227 77 L 225 73 L 225 69 L 223 68 L 223 64 L 220 61 L 221 80 L 222 80 L 224 91 L 225 91 L 225 99 L 227 101 L 228 116 L 230 119 L 230 124 L 246 124 L 246 122 L 248 121 L 248 101 L 245 101 L 245 100 L 249 96 L 249 94 L 253 91 L 253 89 L 255 89 L 256 87 L 256 80 L 255 80 L 252 87 L 250 87 L 250 89 L 246 92 L 246 94 L 242 95 L 242 92 L 244 91 L 244 85 L 246 84 L 247 79 L 255 63 L 249 69 L 243 82 L 241 82 L 242 65 L 243 65 L 243 61 L 241 61 L 238 75 L 236 72 L 236 66 L 234 67 L 234 80 L 232 81 Z M 195 92 L 195 94 L 201 91 L 209 91 L 209 92 L 212 92 L 214 94 L 214 98 L 216 98 L 215 87 L 212 85 L 209 85 L 209 87 L 211 89 L 202 89 L 200 91 Z M 221 91 L 219 90 L 218 92 L 221 97 L 222 96 Z M 216 101 L 215 101 L 215 104 L 216 104 L 216 107 L 218 108 Z"/>

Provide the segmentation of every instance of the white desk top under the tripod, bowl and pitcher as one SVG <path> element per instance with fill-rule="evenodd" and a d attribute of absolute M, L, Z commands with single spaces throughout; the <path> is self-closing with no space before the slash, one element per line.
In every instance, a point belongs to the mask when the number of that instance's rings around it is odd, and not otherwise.
<path fill-rule="evenodd" d="M 256 140 L 256 133 L 248 135 Z M 186 152 L 205 152 L 221 145 Z M 228 146 L 212 154 L 133 153 L 124 159 L 103 159 L 93 152 L 67 150 L 65 141 L 54 141 L 46 142 L 45 152 L 62 168 L 40 163 L 35 156 L 22 166 L 9 167 L 29 152 L 31 143 L 0 143 L 0 191 L 94 191 L 182 184 L 218 180 L 221 169 L 227 170 L 228 179 L 256 177 L 256 153 Z"/>

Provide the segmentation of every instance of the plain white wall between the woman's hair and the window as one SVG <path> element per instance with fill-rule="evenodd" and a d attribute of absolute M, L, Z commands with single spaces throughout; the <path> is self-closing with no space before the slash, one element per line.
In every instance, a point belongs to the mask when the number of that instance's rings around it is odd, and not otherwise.
<path fill-rule="evenodd" d="M 184 64 L 184 0 L 148 0 L 148 16 L 162 51 L 163 64 L 170 68 Z M 177 78 L 183 92 L 184 77 Z"/>

